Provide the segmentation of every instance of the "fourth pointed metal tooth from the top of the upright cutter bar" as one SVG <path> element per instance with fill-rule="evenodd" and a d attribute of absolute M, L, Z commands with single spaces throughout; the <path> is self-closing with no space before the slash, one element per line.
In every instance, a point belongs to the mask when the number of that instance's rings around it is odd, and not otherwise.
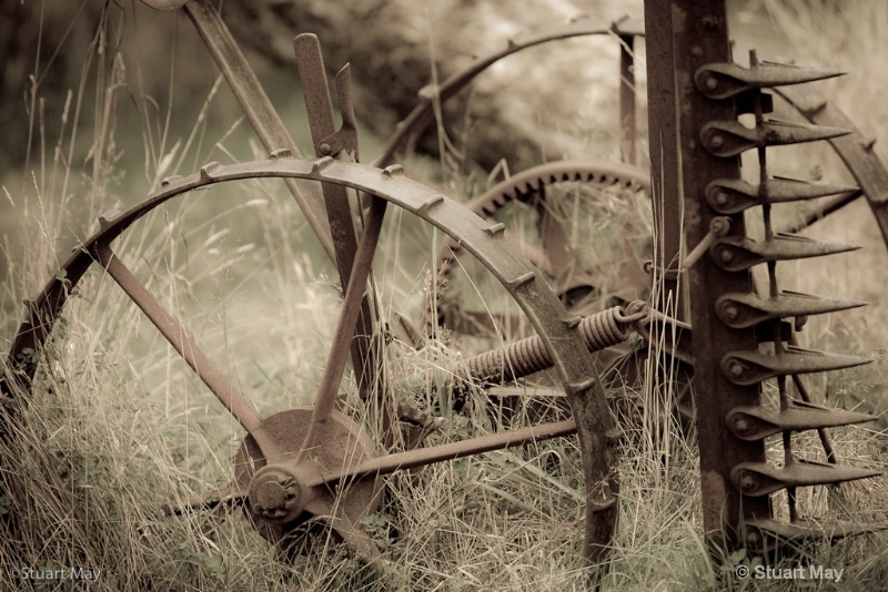
<path fill-rule="evenodd" d="M 709 254 L 723 269 L 743 272 L 760 263 L 824 257 L 858 248 L 855 245 L 778 233 L 773 239 L 763 242 L 746 236 L 725 236 L 715 242 Z"/>

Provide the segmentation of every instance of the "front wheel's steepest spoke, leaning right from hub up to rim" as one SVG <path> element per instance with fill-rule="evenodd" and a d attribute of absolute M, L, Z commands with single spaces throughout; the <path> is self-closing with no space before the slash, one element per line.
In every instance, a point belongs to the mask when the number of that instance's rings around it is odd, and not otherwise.
<path fill-rule="evenodd" d="M 361 236 L 361 245 L 355 254 L 351 278 L 342 303 L 342 315 L 330 346 L 326 368 L 314 402 L 312 423 L 309 427 L 309 433 L 305 435 L 302 451 L 314 446 L 320 426 L 330 418 L 330 414 L 336 405 L 342 372 L 345 370 L 349 357 L 349 344 L 354 337 L 355 323 L 361 313 L 361 300 L 366 289 L 371 263 L 373 263 L 373 255 L 376 252 L 376 243 L 380 239 L 387 203 L 379 197 L 373 198 L 370 203 L 366 225 Z"/>

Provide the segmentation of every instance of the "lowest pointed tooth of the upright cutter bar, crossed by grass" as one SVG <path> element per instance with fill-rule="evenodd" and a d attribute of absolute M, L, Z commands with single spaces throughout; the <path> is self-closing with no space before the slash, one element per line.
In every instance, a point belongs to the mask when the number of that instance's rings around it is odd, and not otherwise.
<path fill-rule="evenodd" d="M 885 530 L 888 524 L 861 524 L 850 520 L 797 520 L 784 523 L 773 518 L 747 520 L 746 547 L 755 553 L 764 553 L 786 542 L 807 540 L 836 540 L 868 532 Z"/>

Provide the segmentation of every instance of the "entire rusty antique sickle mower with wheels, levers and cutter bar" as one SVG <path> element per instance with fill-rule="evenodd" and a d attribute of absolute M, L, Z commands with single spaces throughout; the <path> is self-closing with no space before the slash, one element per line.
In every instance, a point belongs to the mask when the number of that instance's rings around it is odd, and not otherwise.
<path fill-rule="evenodd" d="M 173 9 L 181 3 L 145 1 L 162 9 Z M 325 157 L 314 161 L 293 159 L 296 152 L 295 146 L 291 146 L 292 140 L 289 140 L 258 82 L 255 89 L 250 89 L 254 76 L 250 78 L 252 72 L 236 51 L 233 40 L 226 37 L 228 32 L 221 29 L 224 25 L 218 21 L 212 7 L 206 0 L 192 0 L 186 11 L 220 63 L 248 118 L 272 152 L 272 157 L 229 166 L 210 163 L 199 174 L 164 181 L 159 192 L 125 213 L 114 212 L 103 216 L 101 229 L 75 251 L 61 267 L 62 273 L 57 274 L 37 298 L 26 303 L 27 318 L 8 357 L 10 376 L 19 387 L 26 390 L 30 387 L 37 364 L 34 351 L 47 339 L 68 295 L 85 269 L 98 262 L 246 429 L 249 436 L 236 463 L 238 482 L 229 491 L 228 498 L 246 498 L 248 512 L 262 524 L 260 530 L 265 529 L 263 535 L 270 540 L 279 540 L 287 529 L 300 525 L 306 513 L 326 517 L 331 528 L 365 559 L 374 562 L 379 554 L 363 533 L 360 519 L 372 511 L 379 501 L 376 476 L 578 431 L 587 490 L 584 554 L 593 562 L 602 560 L 607 552 L 616 517 L 614 430 L 587 349 L 607 347 L 626 338 L 629 318 L 625 310 L 584 320 L 567 316 L 555 295 L 543 285 L 538 274 L 507 244 L 502 224 L 484 222 L 434 190 L 407 181 L 400 166 L 380 171 L 330 157 L 344 151 L 352 160 L 357 159 L 347 69 L 336 79 L 343 125 L 335 131 L 323 64 L 320 62 L 320 48 L 316 39 L 310 37 L 297 38 L 295 47 L 301 54 L 300 71 L 307 89 L 315 152 Z M 764 542 L 767 535 L 797 540 L 871 530 L 871 527 L 845 528 L 842 524 L 818 524 L 815 529 L 814 524 L 798 518 L 795 501 L 797 487 L 877 474 L 866 469 L 836 466 L 831 447 L 824 436 L 825 427 L 857 423 L 871 417 L 807 405 L 805 401 L 810 398 L 799 375 L 846 368 L 868 360 L 804 350 L 796 346 L 796 329 L 786 321 L 787 317 L 825 314 L 861 303 L 787 294 L 779 289 L 775 273 L 778 262 L 821 256 L 847 251 L 848 247 L 780 236 L 771 227 L 769 210 L 774 203 L 842 193 L 833 203 L 838 206 L 857 193 L 854 187 L 842 185 L 769 178 L 766 149 L 785 143 L 829 140 L 846 159 L 867 195 L 886 242 L 888 214 L 882 206 L 888 203 L 888 173 L 875 157 L 872 142 L 861 141 L 860 134 L 847 120 L 837 115 L 817 95 L 797 89 L 778 91 L 817 126 L 763 118 L 763 113 L 770 111 L 770 101 L 768 95 L 760 93 L 761 89 L 818 80 L 836 75 L 835 72 L 767 64 L 758 62 L 754 54 L 748 69 L 729 63 L 723 1 L 647 0 L 645 11 L 650 29 L 648 63 L 654 64 L 653 69 L 649 65 L 649 83 L 655 217 L 664 241 L 660 251 L 664 263 L 659 267 L 674 269 L 672 262 L 682 248 L 683 237 L 678 228 L 682 227 L 679 213 L 683 207 L 687 229 L 685 238 L 687 247 L 692 249 L 689 258 L 697 263 L 690 265 L 686 262 L 685 265 L 689 268 L 695 333 L 693 356 L 689 327 L 687 331 L 679 331 L 685 334 L 685 338 L 673 354 L 685 364 L 694 363 L 697 375 L 695 387 L 706 535 L 716 548 L 736 545 L 740 532 L 746 528 L 744 542 L 750 549 L 768 549 L 768 543 Z M 635 24 L 624 24 L 620 21 L 606 31 L 591 31 L 587 25 L 577 24 L 548 37 L 536 35 L 524 42 L 511 43 L 506 51 L 476 62 L 465 73 L 427 93 L 424 103 L 414 112 L 418 115 L 405 122 L 390 143 L 392 152 L 386 152 L 383 159 L 410 143 L 411 134 L 415 135 L 425 124 L 423 118 L 431 113 L 433 100 L 445 100 L 457 92 L 496 59 L 551 39 L 609 32 L 620 37 L 624 43 L 620 61 L 620 145 L 624 157 L 632 160 L 634 146 L 629 146 L 628 137 L 633 135 L 634 121 L 629 121 L 629 99 L 634 118 L 634 94 L 629 93 L 633 82 L 632 54 L 627 50 L 632 48 L 633 38 L 643 34 L 643 31 Z M 251 94 L 254 91 L 259 94 Z M 750 130 L 739 125 L 735 121 L 738 112 L 754 113 L 756 126 Z M 842 134 L 849 135 L 840 137 Z M 271 146 L 274 146 L 273 151 Z M 758 185 L 739 181 L 736 155 L 746 150 L 758 151 L 761 169 Z M 486 201 L 480 210 L 488 214 L 488 210 L 500 207 L 505 200 L 522 198 L 522 192 L 543 188 L 546 183 L 571 175 L 582 176 L 586 174 L 583 171 L 588 170 L 583 166 L 568 169 L 556 165 L 546 174 L 533 171 L 519 181 L 509 181 L 507 187 L 497 186 L 495 192 L 482 196 L 482 201 Z M 588 178 L 595 178 L 596 174 L 602 173 L 592 172 Z M 284 411 L 266 419 L 260 418 L 245 396 L 219 372 L 184 328 L 163 310 L 109 247 L 111 241 L 135 220 L 170 198 L 213 183 L 254 177 L 287 180 L 294 196 L 297 190 L 293 190 L 296 185 L 290 183 L 293 180 L 322 183 L 333 228 L 334 239 L 331 244 L 336 252 L 345 289 L 343 314 L 315 406 Z M 619 178 L 619 183 L 625 183 L 623 177 Z M 638 182 L 638 185 L 643 183 Z M 344 191 L 346 186 L 376 196 L 369 202 L 360 247 Z M 684 191 L 682 194 L 678 191 L 680 186 Z M 314 215 L 315 203 L 306 201 L 303 204 L 304 200 L 296 198 L 306 217 Z M 369 339 L 376 333 L 372 321 L 364 323 L 357 329 L 355 325 L 362 318 L 372 320 L 370 305 L 363 295 L 367 279 L 372 278 L 371 263 L 389 202 L 415 213 L 447 233 L 458 245 L 454 248 L 473 253 L 513 295 L 539 333 L 539 337 L 488 353 L 486 358 L 480 357 L 474 366 L 470 360 L 471 378 L 509 378 L 554 366 L 564 382 L 574 419 L 380 457 L 363 429 L 334 410 L 345 367 L 346 344 L 355 334 Z M 833 204 L 826 206 L 827 210 L 834 207 Z M 767 235 L 765 242 L 751 242 L 745 234 L 743 212 L 750 208 L 755 208 L 750 212 L 753 214 L 759 213 L 760 208 Z M 716 214 L 728 216 L 724 218 L 725 224 Z M 312 227 L 330 252 L 327 243 L 324 243 L 329 238 L 322 226 L 314 220 Z M 722 229 L 715 233 L 715 226 Z M 544 246 L 546 236 L 549 243 L 563 243 L 563 228 L 541 234 L 544 235 Z M 715 244 L 710 247 L 710 243 Z M 552 257 L 552 267 L 563 267 L 565 257 L 569 258 L 571 253 L 565 251 L 561 255 Z M 768 266 L 768 298 L 750 292 L 748 268 L 763 263 Z M 668 290 L 675 290 L 675 285 L 669 285 Z M 679 296 L 677 293 L 673 295 L 676 298 Z M 644 312 L 637 318 L 632 318 L 632 323 L 644 335 L 645 327 L 649 328 L 658 319 L 674 331 L 684 326 L 672 319 L 664 320 L 656 312 Z M 796 323 L 796 328 L 799 326 Z M 585 344 L 582 338 L 585 338 Z M 771 344 L 773 354 L 758 347 L 763 341 Z M 356 361 L 371 358 L 366 351 L 353 354 Z M 361 381 L 364 370 L 360 369 L 360 364 L 355 366 Z M 777 381 L 779 411 L 769 411 L 758 405 L 759 385 L 766 379 Z M 789 396 L 790 382 L 801 401 Z M 4 390 L 8 388 L 6 381 L 2 386 Z M 790 432 L 807 429 L 820 432 L 829 465 L 795 458 Z M 784 439 L 785 463 L 781 468 L 765 461 L 761 447 L 764 438 L 776 433 L 783 433 Z M 343 481 L 349 481 L 345 483 L 349 486 L 345 493 L 334 496 L 333 488 L 329 486 Z M 778 523 L 770 518 L 767 496 L 781 488 L 787 489 L 788 493 L 789 524 Z"/>

